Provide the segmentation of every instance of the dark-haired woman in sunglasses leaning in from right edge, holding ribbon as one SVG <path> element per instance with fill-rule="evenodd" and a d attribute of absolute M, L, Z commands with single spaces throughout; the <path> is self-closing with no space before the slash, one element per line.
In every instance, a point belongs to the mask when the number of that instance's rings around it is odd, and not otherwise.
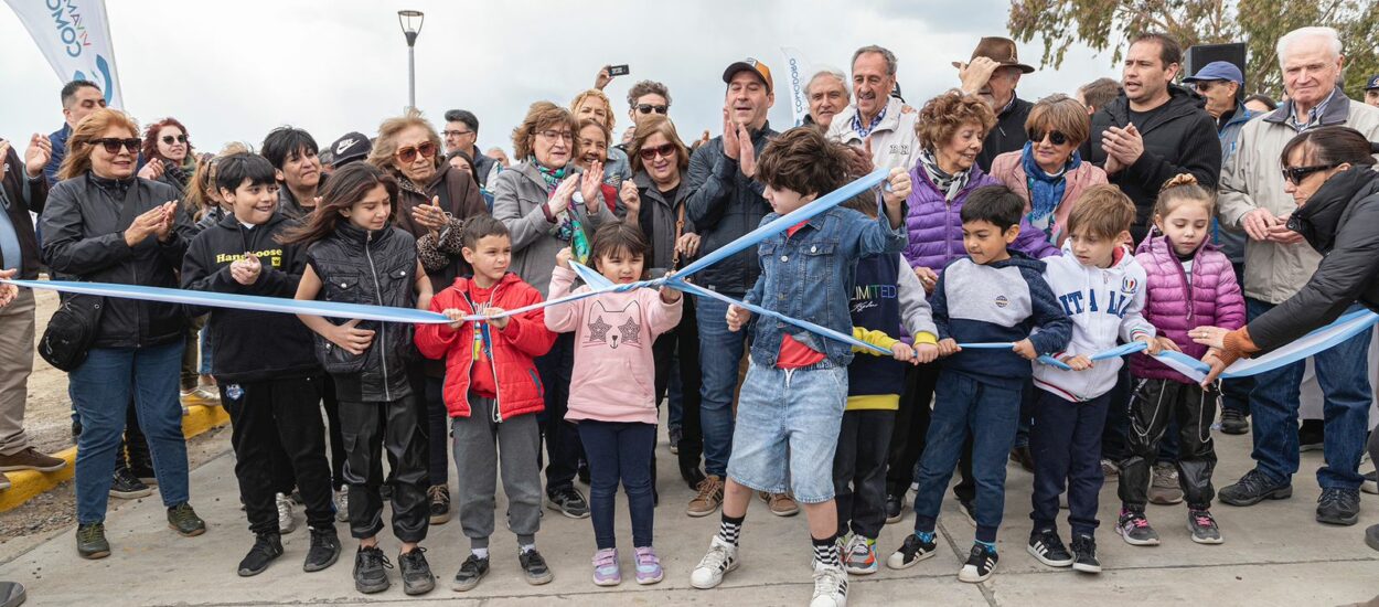
<path fill-rule="evenodd" d="M 1197 344 L 1211 348 L 1202 356 L 1202 361 L 1211 364 L 1204 386 L 1215 382 L 1238 359 L 1285 346 L 1361 305 L 1379 309 L 1379 280 L 1375 280 L 1379 273 L 1379 257 L 1375 255 L 1379 250 L 1379 172 L 1375 171 L 1375 153 L 1379 153 L 1379 145 L 1349 127 L 1313 128 L 1284 146 L 1280 157 L 1284 192 L 1292 195 L 1298 204 L 1298 210 L 1288 217 L 1287 229 L 1300 235 L 1322 255 L 1321 265 L 1294 297 L 1255 316 L 1245 327 L 1234 331 L 1197 327 L 1187 332 Z M 1251 239 L 1263 240 L 1267 236 L 1248 223 L 1245 228 Z M 1333 410 L 1327 403 L 1327 440 L 1350 440 L 1339 436 L 1343 429 L 1350 429 L 1332 426 L 1347 418 L 1358 422 L 1353 430 L 1358 435 L 1351 436 L 1362 436 L 1367 408 L 1368 404 L 1360 410 Z M 1379 461 L 1379 433 L 1369 437 L 1369 454 Z M 1327 464 L 1333 473 L 1354 473 L 1354 468 L 1347 472 L 1342 466 L 1354 466 L 1358 455 L 1349 462 Z M 1320 520 L 1325 513 L 1331 519 L 1328 521 L 1335 524 L 1354 524 L 1358 509 L 1358 490 L 1324 488 L 1317 517 Z M 1379 526 L 1365 530 L 1365 542 L 1379 550 Z"/>

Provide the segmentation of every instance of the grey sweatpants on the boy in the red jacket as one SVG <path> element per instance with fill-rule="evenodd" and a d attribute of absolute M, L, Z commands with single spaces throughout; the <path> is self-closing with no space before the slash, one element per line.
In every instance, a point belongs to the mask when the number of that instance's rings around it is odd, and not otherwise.
<path fill-rule="evenodd" d="M 502 466 L 507 527 L 519 545 L 535 544 L 541 528 L 541 430 L 536 415 L 494 421 L 494 400 L 469 395 L 470 415 L 451 418 L 459 477 L 459 526 L 470 548 L 488 548 Z M 499 451 L 502 458 L 499 458 Z"/>

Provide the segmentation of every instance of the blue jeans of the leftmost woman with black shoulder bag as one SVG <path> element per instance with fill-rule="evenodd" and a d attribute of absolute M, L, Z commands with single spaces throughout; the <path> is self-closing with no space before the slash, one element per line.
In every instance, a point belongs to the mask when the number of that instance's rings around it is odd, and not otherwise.
<path fill-rule="evenodd" d="M 188 501 L 186 441 L 178 378 L 183 339 L 153 348 L 92 348 L 72 370 L 72 403 L 81 415 L 77 437 L 77 521 L 105 521 L 116 451 L 130 397 L 149 440 L 164 506 Z"/>

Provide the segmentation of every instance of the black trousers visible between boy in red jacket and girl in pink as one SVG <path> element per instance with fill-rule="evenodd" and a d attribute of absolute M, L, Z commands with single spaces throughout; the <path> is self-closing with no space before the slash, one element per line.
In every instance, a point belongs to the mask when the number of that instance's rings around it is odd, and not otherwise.
<path fill-rule="evenodd" d="M 536 359 L 536 372 L 546 390 L 546 411 L 541 433 L 546 441 L 546 495 L 575 484 L 575 470 L 583 457 L 579 432 L 565 421 L 570 407 L 570 374 L 575 368 L 575 334 L 563 332 L 545 356 Z"/>

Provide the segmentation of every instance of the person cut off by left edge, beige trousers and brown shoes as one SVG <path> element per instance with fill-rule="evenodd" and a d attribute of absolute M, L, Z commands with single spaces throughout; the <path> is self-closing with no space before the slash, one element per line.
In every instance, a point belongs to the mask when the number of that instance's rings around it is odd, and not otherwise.
<path fill-rule="evenodd" d="M 33 135 L 23 161 L 0 139 L 0 270 L 18 270 L 19 279 L 39 277 L 39 241 L 29 212 L 43 212 L 48 182 L 43 167 L 52 155 L 48 138 Z M 0 490 L 10 487 L 4 472 L 61 470 L 65 461 L 44 455 L 23 433 L 23 408 L 33 372 L 33 291 L 23 290 L 0 310 Z"/>

